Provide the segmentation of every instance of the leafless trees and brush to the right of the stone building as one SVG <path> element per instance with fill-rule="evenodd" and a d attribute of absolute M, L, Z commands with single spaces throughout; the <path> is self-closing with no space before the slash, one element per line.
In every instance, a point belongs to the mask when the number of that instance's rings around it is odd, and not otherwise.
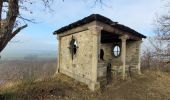
<path fill-rule="evenodd" d="M 169 7 L 168 5 L 166 8 Z M 147 39 L 142 65 L 165 70 L 165 67 L 170 64 L 170 9 L 164 15 L 157 17 L 154 33 L 154 36 Z"/>

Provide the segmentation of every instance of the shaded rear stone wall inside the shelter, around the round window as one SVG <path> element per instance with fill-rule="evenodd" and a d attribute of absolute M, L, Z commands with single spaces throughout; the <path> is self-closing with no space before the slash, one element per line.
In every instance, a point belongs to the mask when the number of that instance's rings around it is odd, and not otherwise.
<path fill-rule="evenodd" d="M 121 56 L 119 57 L 112 56 L 112 47 L 114 43 L 101 44 L 101 49 L 103 49 L 104 51 L 104 60 L 105 60 L 104 62 L 105 63 L 111 62 L 113 71 L 121 72 L 122 70 Z M 128 40 L 126 42 L 126 65 L 127 65 L 126 67 L 132 67 L 133 69 L 137 70 L 137 67 L 139 64 L 139 49 L 140 49 L 139 41 Z M 98 72 L 98 73 L 101 73 L 101 72 Z"/>

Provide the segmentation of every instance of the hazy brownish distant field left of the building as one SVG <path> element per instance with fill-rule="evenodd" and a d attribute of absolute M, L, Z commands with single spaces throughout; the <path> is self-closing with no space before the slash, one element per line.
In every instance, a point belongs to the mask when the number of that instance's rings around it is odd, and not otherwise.
<path fill-rule="evenodd" d="M 0 80 L 27 80 L 54 75 L 56 59 L 0 61 Z"/>

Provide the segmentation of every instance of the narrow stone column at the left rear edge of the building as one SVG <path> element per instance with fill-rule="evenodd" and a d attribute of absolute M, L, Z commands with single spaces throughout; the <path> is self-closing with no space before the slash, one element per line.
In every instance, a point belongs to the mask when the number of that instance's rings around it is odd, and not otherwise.
<path fill-rule="evenodd" d="M 57 53 L 57 70 L 55 74 L 58 74 L 60 72 L 61 37 L 57 36 L 57 40 L 58 40 L 58 53 Z"/>

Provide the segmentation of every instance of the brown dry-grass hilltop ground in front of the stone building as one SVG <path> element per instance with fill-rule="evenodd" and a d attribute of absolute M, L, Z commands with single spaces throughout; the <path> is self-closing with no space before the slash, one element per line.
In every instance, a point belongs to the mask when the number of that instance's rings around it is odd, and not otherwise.
<path fill-rule="evenodd" d="M 140 77 L 113 80 L 96 92 L 62 74 L 44 80 L 9 82 L 0 88 L 1 97 L 8 100 L 170 100 L 170 74 L 144 71 Z"/>

